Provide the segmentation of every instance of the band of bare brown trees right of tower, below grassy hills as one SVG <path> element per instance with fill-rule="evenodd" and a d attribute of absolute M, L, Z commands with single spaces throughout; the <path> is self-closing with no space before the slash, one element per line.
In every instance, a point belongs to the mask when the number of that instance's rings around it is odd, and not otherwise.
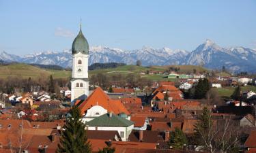
<path fill-rule="evenodd" d="M 152 80 L 147 78 L 141 78 L 139 74 L 129 73 L 128 75 L 122 75 L 121 73 L 113 75 L 105 75 L 104 73 L 97 73 L 91 75 L 90 84 L 102 87 L 104 90 L 108 90 L 112 84 L 119 87 L 129 86 L 144 88 L 145 86 L 152 86 Z"/>

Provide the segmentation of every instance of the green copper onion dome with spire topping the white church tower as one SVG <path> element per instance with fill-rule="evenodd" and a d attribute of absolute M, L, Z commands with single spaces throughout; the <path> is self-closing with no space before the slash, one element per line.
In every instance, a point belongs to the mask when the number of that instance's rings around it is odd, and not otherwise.
<path fill-rule="evenodd" d="M 85 36 L 83 36 L 81 27 L 79 35 L 76 36 L 72 44 L 72 54 L 76 54 L 79 52 L 83 54 L 89 54 L 89 45 L 87 39 L 85 39 Z"/>

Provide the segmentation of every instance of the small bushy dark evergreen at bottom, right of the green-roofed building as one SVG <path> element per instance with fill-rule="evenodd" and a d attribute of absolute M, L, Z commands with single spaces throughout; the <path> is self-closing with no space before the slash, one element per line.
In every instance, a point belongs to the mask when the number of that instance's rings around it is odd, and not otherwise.
<path fill-rule="evenodd" d="M 170 134 L 168 144 L 173 149 L 183 149 L 184 146 L 188 144 L 188 140 L 186 139 L 186 135 L 183 133 L 183 131 L 176 127 L 175 130 Z"/>

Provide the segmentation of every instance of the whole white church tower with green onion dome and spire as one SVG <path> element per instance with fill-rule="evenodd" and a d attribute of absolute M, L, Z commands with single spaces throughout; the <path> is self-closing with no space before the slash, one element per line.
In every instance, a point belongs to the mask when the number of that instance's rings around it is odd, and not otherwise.
<path fill-rule="evenodd" d="M 85 100 L 89 94 L 88 80 L 89 45 L 82 33 L 80 25 L 79 35 L 72 44 L 72 80 L 71 103 L 76 100 Z"/>

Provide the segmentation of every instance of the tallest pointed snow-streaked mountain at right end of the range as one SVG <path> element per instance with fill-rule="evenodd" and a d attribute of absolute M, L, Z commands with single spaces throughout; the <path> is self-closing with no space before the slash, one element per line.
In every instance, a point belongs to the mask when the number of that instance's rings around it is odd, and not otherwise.
<path fill-rule="evenodd" d="M 222 48 L 207 39 L 186 56 L 186 65 L 203 65 L 211 69 L 256 72 L 256 52 L 249 48 Z"/>

